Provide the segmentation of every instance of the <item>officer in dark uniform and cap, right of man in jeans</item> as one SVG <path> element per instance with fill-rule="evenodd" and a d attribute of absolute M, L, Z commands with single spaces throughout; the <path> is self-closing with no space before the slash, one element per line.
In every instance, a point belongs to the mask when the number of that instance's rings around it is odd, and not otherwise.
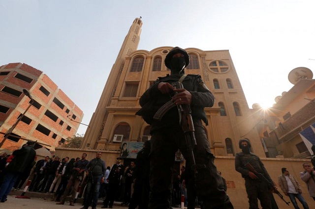
<path fill-rule="evenodd" d="M 103 208 L 113 208 L 113 204 L 117 195 L 117 191 L 119 188 L 119 183 L 121 176 L 124 174 L 125 166 L 121 164 L 121 158 L 117 157 L 116 164 L 112 166 L 110 170 L 109 176 L 107 178 L 108 182 L 108 192 L 106 198 L 103 202 Z"/>

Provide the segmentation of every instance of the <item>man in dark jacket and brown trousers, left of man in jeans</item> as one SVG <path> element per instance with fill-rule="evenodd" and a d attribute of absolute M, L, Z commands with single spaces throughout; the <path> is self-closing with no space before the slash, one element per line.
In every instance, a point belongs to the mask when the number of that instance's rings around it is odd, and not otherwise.
<path fill-rule="evenodd" d="M 69 193 L 69 190 L 73 186 L 72 189 L 72 195 L 70 198 L 70 206 L 74 206 L 74 198 L 75 194 L 78 190 L 78 187 L 83 179 L 85 167 L 89 163 L 89 160 L 86 159 L 87 154 L 83 153 L 81 160 L 78 160 L 73 167 L 73 173 L 69 179 L 69 182 L 67 183 L 67 186 L 63 192 L 63 196 L 60 198 L 60 202 L 56 203 L 56 205 L 63 205 L 65 202 L 65 198 L 67 197 L 67 194 Z"/>

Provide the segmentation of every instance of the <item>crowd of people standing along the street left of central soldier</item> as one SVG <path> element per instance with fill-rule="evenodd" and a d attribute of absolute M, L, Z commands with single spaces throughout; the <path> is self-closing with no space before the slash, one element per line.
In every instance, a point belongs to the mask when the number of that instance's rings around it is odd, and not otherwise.
<path fill-rule="evenodd" d="M 147 141 L 139 151 L 137 159 L 126 166 L 118 157 L 116 164 L 106 167 L 101 159 L 101 152 L 97 152 L 95 158 L 90 161 L 86 159 L 86 153 L 83 153 L 81 158 L 70 160 L 69 157 L 61 159 L 57 156 L 46 156 L 36 161 L 32 142 L 28 142 L 12 155 L 1 155 L 0 201 L 4 203 L 10 191 L 24 189 L 22 186 L 29 179 L 32 180 L 28 186 L 30 192 L 51 194 L 57 205 L 65 204 L 67 196 L 70 196 L 70 206 L 75 206 L 77 197 L 84 198 L 82 209 L 88 209 L 90 206 L 95 209 L 100 198 L 104 202 L 102 208 L 113 208 L 114 201 L 121 201 L 121 205 L 130 209 L 138 206 L 145 208 L 144 202 L 148 203 L 150 192 L 149 153 L 150 142 Z M 145 181 L 147 183 L 144 183 Z"/>

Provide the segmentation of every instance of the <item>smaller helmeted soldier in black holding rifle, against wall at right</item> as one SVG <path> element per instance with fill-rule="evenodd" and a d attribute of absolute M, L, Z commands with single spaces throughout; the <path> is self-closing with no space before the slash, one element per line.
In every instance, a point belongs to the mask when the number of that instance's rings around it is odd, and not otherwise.
<path fill-rule="evenodd" d="M 252 167 L 264 175 L 264 177 L 273 182 L 260 158 L 250 152 L 251 143 L 247 139 L 239 141 L 239 147 L 242 149 L 241 153 L 235 156 L 235 170 L 242 174 L 245 179 L 245 187 L 249 199 L 250 209 L 258 209 L 258 199 L 262 209 L 271 209 L 271 200 L 269 195 L 268 185 L 260 181 L 258 177 L 245 167 L 246 163 L 250 163 Z"/>

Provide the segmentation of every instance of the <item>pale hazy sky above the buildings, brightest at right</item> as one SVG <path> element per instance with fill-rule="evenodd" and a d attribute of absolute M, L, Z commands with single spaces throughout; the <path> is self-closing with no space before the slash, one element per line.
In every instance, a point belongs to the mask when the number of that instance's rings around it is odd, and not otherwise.
<path fill-rule="evenodd" d="M 229 50 L 248 105 L 271 107 L 297 67 L 315 74 L 315 0 L 0 0 L 0 66 L 51 78 L 89 124 L 137 17 L 138 50 Z M 77 133 L 84 134 L 80 125 Z"/>

